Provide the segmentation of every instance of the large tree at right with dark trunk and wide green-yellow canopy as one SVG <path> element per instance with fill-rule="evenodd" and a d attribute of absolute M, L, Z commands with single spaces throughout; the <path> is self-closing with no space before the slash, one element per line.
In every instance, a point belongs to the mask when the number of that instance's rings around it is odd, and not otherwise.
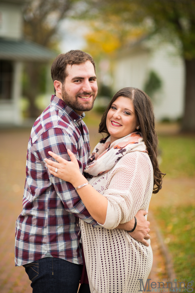
<path fill-rule="evenodd" d="M 90 3 L 91 1 L 89 1 Z M 93 5 L 106 24 L 113 15 L 125 24 L 146 25 L 148 34 L 165 35 L 179 47 L 185 64 L 183 131 L 195 131 L 195 1 L 194 0 L 99 0 Z"/>

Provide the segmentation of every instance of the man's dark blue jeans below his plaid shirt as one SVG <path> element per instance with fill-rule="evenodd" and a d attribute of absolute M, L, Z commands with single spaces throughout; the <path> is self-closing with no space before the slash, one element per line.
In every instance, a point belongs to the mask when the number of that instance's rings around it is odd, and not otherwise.
<path fill-rule="evenodd" d="M 47 257 L 24 267 L 32 281 L 33 293 L 77 293 L 82 265 L 61 258 Z M 81 284 L 79 293 L 82 292 L 90 293 L 89 285 Z"/>

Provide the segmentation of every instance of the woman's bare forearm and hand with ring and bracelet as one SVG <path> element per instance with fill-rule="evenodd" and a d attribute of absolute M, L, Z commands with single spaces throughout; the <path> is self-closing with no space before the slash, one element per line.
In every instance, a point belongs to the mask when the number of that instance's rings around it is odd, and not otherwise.
<path fill-rule="evenodd" d="M 71 162 L 64 160 L 62 157 L 54 154 L 53 152 L 48 152 L 56 161 L 51 161 L 49 159 L 44 159 L 46 161 L 46 166 L 49 172 L 61 178 L 64 181 L 70 182 L 74 188 L 87 183 L 87 179 L 81 174 L 79 170 L 79 165 L 75 155 L 68 149 L 68 155 L 70 156 Z M 57 173 L 55 169 L 58 168 Z M 74 175 L 73 175 L 74 174 Z M 106 212 L 108 206 L 108 200 L 101 193 L 97 192 L 90 184 L 77 189 L 77 193 L 82 199 L 86 209 L 89 214 L 101 225 L 106 221 Z"/>

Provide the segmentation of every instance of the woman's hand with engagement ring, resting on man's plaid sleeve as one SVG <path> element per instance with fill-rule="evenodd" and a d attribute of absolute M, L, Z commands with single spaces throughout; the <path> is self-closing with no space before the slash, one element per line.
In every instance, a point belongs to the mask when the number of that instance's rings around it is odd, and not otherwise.
<path fill-rule="evenodd" d="M 75 155 L 69 149 L 67 150 L 67 153 L 71 159 L 71 162 L 66 161 L 61 156 L 54 154 L 52 151 L 48 151 L 48 154 L 56 159 L 56 161 L 59 163 L 46 158 L 44 161 L 46 162 L 45 166 L 49 169 L 49 172 L 52 175 L 73 184 L 74 180 L 78 178 L 78 176 L 82 176 L 82 174 L 79 170 L 79 164 L 75 158 Z M 58 168 L 57 173 L 55 172 L 56 168 Z"/>

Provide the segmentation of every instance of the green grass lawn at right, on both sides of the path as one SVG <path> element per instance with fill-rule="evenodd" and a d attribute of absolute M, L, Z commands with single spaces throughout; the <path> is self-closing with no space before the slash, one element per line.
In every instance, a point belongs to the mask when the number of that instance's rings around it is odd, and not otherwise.
<path fill-rule="evenodd" d="M 194 179 L 195 138 L 190 136 L 159 137 L 160 169 L 168 178 Z M 185 204 L 158 207 L 153 210 L 174 261 L 177 279 L 195 279 L 195 205 Z M 194 280 L 195 281 L 195 280 Z"/>

